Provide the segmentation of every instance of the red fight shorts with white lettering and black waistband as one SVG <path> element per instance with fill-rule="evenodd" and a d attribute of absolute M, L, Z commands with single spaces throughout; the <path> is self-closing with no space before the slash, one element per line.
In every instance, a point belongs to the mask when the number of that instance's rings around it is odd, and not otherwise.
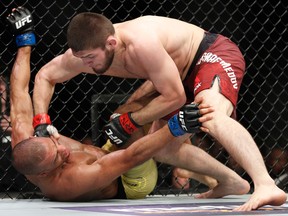
<path fill-rule="evenodd" d="M 220 80 L 220 93 L 234 106 L 231 117 L 236 118 L 239 89 L 245 72 L 244 57 L 238 46 L 229 38 L 205 32 L 195 58 L 183 80 L 187 103 L 194 101 L 195 95 L 209 89 L 215 77 Z M 163 119 L 168 120 L 177 110 Z"/>

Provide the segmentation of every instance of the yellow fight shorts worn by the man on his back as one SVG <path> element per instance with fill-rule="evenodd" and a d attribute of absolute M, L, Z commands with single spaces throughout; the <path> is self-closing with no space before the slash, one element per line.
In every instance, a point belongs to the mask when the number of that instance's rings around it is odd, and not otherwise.
<path fill-rule="evenodd" d="M 102 148 L 109 152 L 115 150 L 110 140 Z M 133 158 L 131 159 L 133 160 Z M 149 159 L 124 173 L 121 178 L 127 199 L 145 198 L 154 190 L 157 184 L 158 170 L 156 162 Z"/>

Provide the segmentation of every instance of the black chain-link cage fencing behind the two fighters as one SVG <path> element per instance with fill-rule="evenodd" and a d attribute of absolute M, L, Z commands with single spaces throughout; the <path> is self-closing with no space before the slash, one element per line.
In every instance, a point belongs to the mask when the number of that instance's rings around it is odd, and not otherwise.
<path fill-rule="evenodd" d="M 66 29 L 79 12 L 102 13 L 113 23 L 143 15 L 167 16 L 229 37 L 240 47 L 247 66 L 240 89 L 238 120 L 255 139 L 270 175 L 287 191 L 287 4 L 277 0 L 1 0 L 0 198 L 41 197 L 38 188 L 10 163 L 9 74 L 16 47 L 5 17 L 17 6 L 27 7 L 35 19 L 38 43 L 31 58 L 31 91 L 37 71 L 67 49 Z M 142 82 L 81 74 L 58 84 L 49 107 L 53 124 L 63 135 L 101 145 L 105 141 L 102 126 Z M 192 141 L 251 182 L 247 173 L 215 141 L 204 134 L 192 137 Z M 179 188 L 172 181 L 173 167 L 158 164 L 158 168 L 159 180 L 152 194 L 190 195 L 205 189 L 193 179 Z"/>

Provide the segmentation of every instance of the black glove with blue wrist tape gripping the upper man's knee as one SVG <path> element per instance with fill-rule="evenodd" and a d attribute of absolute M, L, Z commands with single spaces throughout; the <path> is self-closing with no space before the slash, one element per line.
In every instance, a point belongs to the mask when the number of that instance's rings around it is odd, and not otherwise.
<path fill-rule="evenodd" d="M 168 120 L 168 127 L 173 136 L 182 136 L 185 133 L 200 132 L 201 114 L 195 103 L 184 105 L 180 111 Z"/>

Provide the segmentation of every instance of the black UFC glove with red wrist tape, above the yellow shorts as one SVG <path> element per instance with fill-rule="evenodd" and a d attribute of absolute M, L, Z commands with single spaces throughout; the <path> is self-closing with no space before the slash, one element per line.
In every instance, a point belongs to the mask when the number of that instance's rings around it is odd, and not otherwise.
<path fill-rule="evenodd" d="M 114 118 L 104 126 L 103 130 L 111 143 L 120 147 L 127 142 L 131 134 L 139 127 L 140 125 L 131 118 L 131 113 L 129 112 L 122 115 L 114 115 Z"/>

